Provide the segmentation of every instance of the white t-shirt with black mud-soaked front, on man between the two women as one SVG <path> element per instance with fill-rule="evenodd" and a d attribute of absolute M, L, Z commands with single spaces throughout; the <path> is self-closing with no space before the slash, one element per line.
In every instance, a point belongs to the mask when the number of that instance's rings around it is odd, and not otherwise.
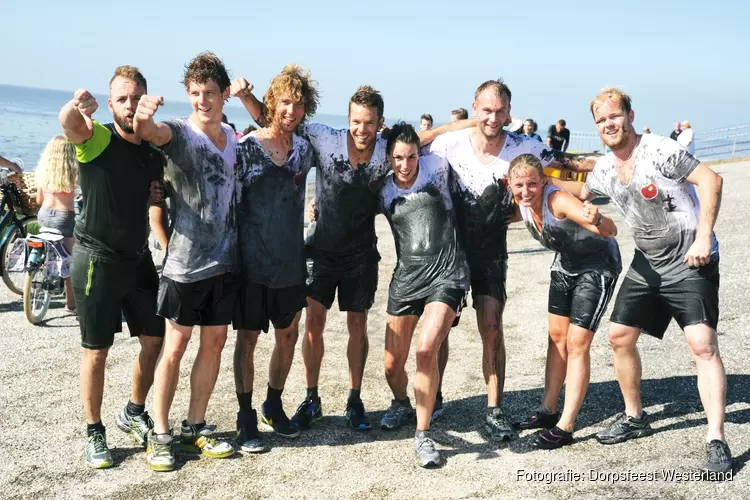
<path fill-rule="evenodd" d="M 508 132 L 497 159 L 489 165 L 477 159 L 470 139 L 471 129 L 438 136 L 424 148 L 448 160 L 449 185 L 458 228 L 471 266 L 508 258 L 506 222 L 513 211 L 506 177 L 510 162 L 522 154 L 533 154 L 542 165 L 561 160 L 561 153 L 521 134 Z"/>

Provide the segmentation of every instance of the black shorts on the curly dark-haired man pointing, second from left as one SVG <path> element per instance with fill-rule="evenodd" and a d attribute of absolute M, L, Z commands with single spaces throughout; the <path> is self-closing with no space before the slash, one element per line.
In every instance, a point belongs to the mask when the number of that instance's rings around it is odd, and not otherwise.
<path fill-rule="evenodd" d="M 181 326 L 222 326 L 232 322 L 238 274 L 224 273 L 193 283 L 180 283 L 166 276 L 159 282 L 159 316 Z"/>

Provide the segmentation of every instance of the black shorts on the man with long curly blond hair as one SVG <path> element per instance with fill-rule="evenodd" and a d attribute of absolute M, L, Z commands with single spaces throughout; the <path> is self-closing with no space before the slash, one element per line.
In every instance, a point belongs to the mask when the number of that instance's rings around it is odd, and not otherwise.
<path fill-rule="evenodd" d="M 305 285 L 268 288 L 258 283 L 242 283 L 237 305 L 232 317 L 235 330 L 268 332 L 269 323 L 274 329 L 289 328 L 294 317 L 307 307 Z"/>

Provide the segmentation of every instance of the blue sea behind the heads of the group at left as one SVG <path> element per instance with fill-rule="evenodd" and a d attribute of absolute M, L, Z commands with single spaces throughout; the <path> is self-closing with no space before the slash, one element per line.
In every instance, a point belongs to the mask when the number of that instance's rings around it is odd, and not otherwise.
<path fill-rule="evenodd" d="M 62 134 L 57 115 L 66 102 L 73 98 L 73 92 L 48 90 L 14 85 L 0 85 L 0 156 L 7 159 L 21 159 L 24 170 L 32 171 L 47 142 Z M 107 109 L 107 96 L 95 94 L 99 109 L 94 119 L 107 123 L 112 114 Z M 179 118 L 191 113 L 187 99 L 184 102 L 166 101 L 156 117 L 159 120 Z M 238 131 L 254 124 L 245 108 L 224 106 L 224 113 Z M 334 128 L 347 128 L 346 116 L 317 114 L 316 122 Z"/>

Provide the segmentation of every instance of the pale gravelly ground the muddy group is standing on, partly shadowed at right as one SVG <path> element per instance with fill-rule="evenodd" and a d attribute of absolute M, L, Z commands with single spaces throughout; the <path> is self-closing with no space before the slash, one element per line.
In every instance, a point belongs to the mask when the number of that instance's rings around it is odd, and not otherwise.
<path fill-rule="evenodd" d="M 591 349 L 591 388 L 578 420 L 578 442 L 564 450 L 531 447 L 532 432 L 507 444 L 488 444 L 480 433 L 486 404 L 481 372 L 481 342 L 473 312 L 451 333 L 451 358 L 444 382 L 446 416 L 434 427 L 446 465 L 422 470 L 412 451 L 413 429 L 387 433 L 374 429 L 355 434 L 344 428 L 346 390 L 346 323 L 338 312 L 330 315 L 326 357 L 320 390 L 326 417 L 295 441 L 269 432 L 263 436 L 271 451 L 263 455 L 238 453 L 233 459 L 179 461 L 173 473 L 154 473 L 144 454 L 134 448 L 115 425 L 115 415 L 127 401 L 132 360 L 138 343 L 119 335 L 107 363 L 103 415 L 116 466 L 87 470 L 82 461 L 84 420 L 78 393 L 80 359 L 76 320 L 54 304 L 41 326 L 29 325 L 21 302 L 0 290 L 0 497 L 36 498 L 750 498 L 750 480 L 743 470 L 750 457 L 750 436 L 741 425 L 750 421 L 750 313 L 745 201 L 750 190 L 750 163 L 715 167 L 725 179 L 717 233 L 722 253 L 720 345 L 727 368 L 726 432 L 737 461 L 731 482 L 669 480 L 662 471 L 689 472 L 704 459 L 705 417 L 696 389 L 695 370 L 688 348 L 673 323 L 665 340 L 644 336 L 643 393 L 646 410 L 655 417 L 656 433 L 649 438 L 603 446 L 594 434 L 622 411 L 623 404 L 612 368 L 605 321 Z M 744 194 L 743 194 L 744 193 Z M 611 214 L 612 209 L 604 211 Z M 629 230 L 619 216 L 625 263 L 633 253 Z M 370 359 L 363 400 L 373 419 L 379 419 L 391 395 L 382 370 L 385 301 L 394 263 L 387 223 L 378 219 L 381 262 L 380 285 L 369 318 Z M 548 267 L 552 254 L 543 251 L 526 230 L 509 232 L 511 250 L 508 305 L 505 313 L 508 369 L 504 407 L 517 419 L 533 411 L 542 392 L 546 352 Z M 745 276 L 745 278 L 742 278 Z M 258 346 L 256 406 L 264 396 L 266 370 L 273 339 Z M 197 343 L 183 362 L 182 380 L 172 409 L 173 421 L 183 418 L 189 397 L 189 370 Z M 210 422 L 222 436 L 234 429 L 236 400 L 232 377 L 233 335 L 224 351 L 222 369 L 208 410 Z M 414 359 L 407 365 L 415 370 Z M 297 354 L 284 393 L 291 414 L 304 395 L 302 362 Z M 149 397 L 148 405 L 151 405 Z M 523 473 L 537 473 L 540 478 Z M 591 472 L 593 471 L 593 473 Z M 543 475 L 559 473 L 554 481 Z M 614 473 L 607 478 L 605 473 Z M 654 478 L 627 478 L 628 473 L 655 473 Z M 576 474 L 582 478 L 574 477 Z M 596 477 L 592 477 L 594 474 Z"/>

